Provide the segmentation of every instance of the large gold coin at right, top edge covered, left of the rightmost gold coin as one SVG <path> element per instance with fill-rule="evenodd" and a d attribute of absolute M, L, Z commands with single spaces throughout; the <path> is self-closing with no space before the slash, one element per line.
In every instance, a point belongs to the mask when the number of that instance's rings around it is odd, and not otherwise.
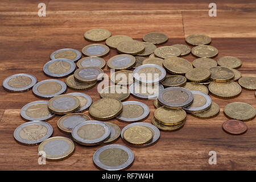
<path fill-rule="evenodd" d="M 209 91 L 213 94 L 213 96 L 223 99 L 229 99 L 237 97 L 242 89 L 241 86 L 236 82 L 211 82 L 209 85 Z"/>

